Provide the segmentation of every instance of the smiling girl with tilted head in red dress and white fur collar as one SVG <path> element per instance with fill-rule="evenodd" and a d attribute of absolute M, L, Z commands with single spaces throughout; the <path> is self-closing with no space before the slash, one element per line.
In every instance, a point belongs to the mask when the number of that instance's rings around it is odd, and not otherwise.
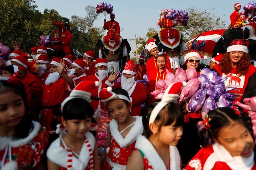
<path fill-rule="evenodd" d="M 102 89 L 100 98 L 113 118 L 108 126 L 100 165 L 102 170 L 126 169 L 137 137 L 143 133 L 142 117 L 131 116 L 132 101 L 124 89 L 116 88 L 113 91 L 111 87 Z"/>

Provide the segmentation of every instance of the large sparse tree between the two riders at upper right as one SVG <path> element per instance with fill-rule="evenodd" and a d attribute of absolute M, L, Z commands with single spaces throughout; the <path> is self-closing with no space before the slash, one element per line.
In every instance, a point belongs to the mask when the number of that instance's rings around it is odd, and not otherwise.
<path fill-rule="evenodd" d="M 188 41 L 200 33 L 216 29 L 225 29 L 226 24 L 220 17 L 212 15 L 214 8 L 211 12 L 201 11 L 197 8 L 187 8 L 188 12 L 188 26 L 182 26 L 180 23 L 175 26 L 175 29 L 180 30 L 185 41 Z"/>

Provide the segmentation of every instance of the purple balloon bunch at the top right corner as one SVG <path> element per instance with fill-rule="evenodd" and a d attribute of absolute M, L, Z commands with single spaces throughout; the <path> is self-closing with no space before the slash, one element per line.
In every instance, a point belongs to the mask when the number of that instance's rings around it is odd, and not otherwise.
<path fill-rule="evenodd" d="M 255 17 L 255 15 L 256 15 L 256 3 L 254 3 L 252 1 L 249 4 L 245 5 L 244 6 L 244 11 L 242 11 L 240 14 L 244 15 L 242 17 L 243 20 L 249 18 L 248 21 L 250 23 L 255 23 L 256 22 L 256 18 L 253 18 L 253 17 Z"/>

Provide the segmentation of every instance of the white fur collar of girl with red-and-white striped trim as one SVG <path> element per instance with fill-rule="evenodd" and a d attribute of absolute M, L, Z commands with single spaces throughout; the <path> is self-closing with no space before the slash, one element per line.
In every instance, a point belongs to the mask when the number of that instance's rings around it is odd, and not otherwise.
<path fill-rule="evenodd" d="M 60 145 L 61 137 L 63 137 L 66 134 L 65 131 L 62 131 L 60 133 L 60 137 L 52 142 L 51 146 L 46 152 L 47 158 L 50 159 L 53 163 L 58 164 L 62 167 L 67 168 L 68 166 L 68 152 Z M 92 135 L 91 132 L 87 132 L 85 134 L 86 139 L 89 140 L 89 143 L 92 147 L 92 152 L 94 150 L 95 145 L 95 138 Z M 73 170 L 84 170 L 86 166 L 88 165 L 90 156 L 89 156 L 89 150 L 86 146 L 86 144 L 83 145 L 79 158 L 72 157 L 72 168 Z"/>

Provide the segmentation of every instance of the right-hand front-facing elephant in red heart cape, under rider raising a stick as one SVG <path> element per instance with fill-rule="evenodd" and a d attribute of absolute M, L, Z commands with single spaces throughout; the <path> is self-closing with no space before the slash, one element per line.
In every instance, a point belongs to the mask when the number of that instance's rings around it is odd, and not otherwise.
<path fill-rule="evenodd" d="M 170 59 L 172 72 L 175 73 L 180 66 L 180 52 L 185 50 L 185 42 L 182 38 L 182 34 L 176 29 L 163 29 L 153 36 L 156 40 L 158 50 L 162 49 L 167 53 Z M 147 44 L 144 49 L 147 48 Z"/>

